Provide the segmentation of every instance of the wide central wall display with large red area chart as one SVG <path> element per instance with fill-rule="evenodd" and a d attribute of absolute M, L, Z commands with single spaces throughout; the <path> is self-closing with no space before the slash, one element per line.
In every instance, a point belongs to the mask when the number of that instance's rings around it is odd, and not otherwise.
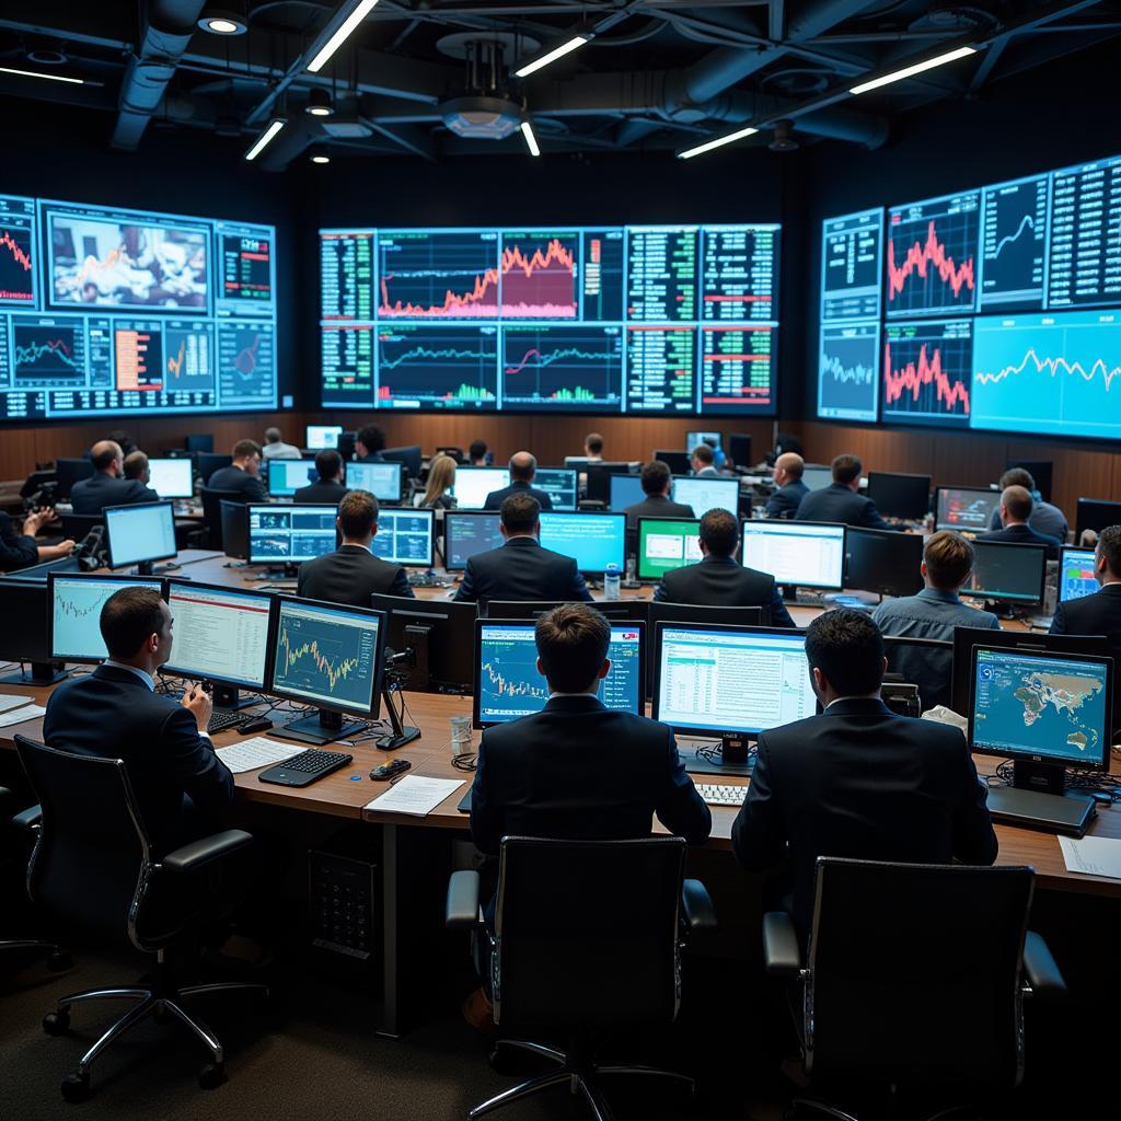
<path fill-rule="evenodd" d="M 322 404 L 775 415 L 778 225 L 321 230 Z"/>

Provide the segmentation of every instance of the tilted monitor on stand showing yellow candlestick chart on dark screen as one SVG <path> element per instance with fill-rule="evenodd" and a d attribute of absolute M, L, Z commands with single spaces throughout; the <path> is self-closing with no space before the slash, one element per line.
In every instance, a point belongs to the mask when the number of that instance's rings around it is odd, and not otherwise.
<path fill-rule="evenodd" d="M 268 691 L 315 705 L 308 716 L 270 734 L 330 743 L 359 731 L 343 716 L 376 717 L 381 693 L 386 617 L 367 608 L 277 596 Z"/>

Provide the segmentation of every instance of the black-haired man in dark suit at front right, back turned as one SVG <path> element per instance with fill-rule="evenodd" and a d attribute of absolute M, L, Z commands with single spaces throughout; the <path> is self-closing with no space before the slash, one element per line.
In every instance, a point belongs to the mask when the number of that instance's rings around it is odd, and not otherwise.
<path fill-rule="evenodd" d="M 814 692 L 825 706 L 759 736 L 748 796 L 732 826 L 747 869 L 788 859 L 794 919 L 805 942 L 818 856 L 991 864 L 997 835 L 965 738 L 897 716 L 880 700 L 883 639 L 863 612 L 837 609 L 806 631 Z"/>

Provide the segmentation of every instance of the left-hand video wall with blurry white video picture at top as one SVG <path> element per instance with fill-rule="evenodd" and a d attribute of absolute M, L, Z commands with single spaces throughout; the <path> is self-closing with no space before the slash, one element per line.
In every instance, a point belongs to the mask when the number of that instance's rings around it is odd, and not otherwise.
<path fill-rule="evenodd" d="M 0 420 L 276 405 L 272 226 L 0 195 Z"/>

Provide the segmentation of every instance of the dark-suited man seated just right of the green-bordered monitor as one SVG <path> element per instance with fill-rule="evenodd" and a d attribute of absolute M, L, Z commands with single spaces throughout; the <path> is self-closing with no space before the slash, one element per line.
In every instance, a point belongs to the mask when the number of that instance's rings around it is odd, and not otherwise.
<path fill-rule="evenodd" d="M 771 627 L 794 627 L 775 577 L 744 568 L 735 559 L 740 527 L 728 510 L 710 510 L 701 519 L 700 564 L 674 568 L 654 590 L 659 603 L 693 603 L 714 608 L 767 608 Z"/>

